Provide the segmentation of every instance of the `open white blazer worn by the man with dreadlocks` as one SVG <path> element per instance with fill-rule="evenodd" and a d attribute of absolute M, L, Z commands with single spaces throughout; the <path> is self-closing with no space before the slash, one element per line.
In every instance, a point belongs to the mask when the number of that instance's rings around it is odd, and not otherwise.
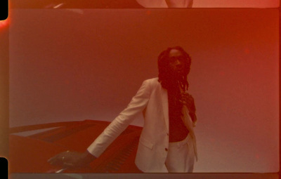
<path fill-rule="evenodd" d="M 126 129 L 137 114 L 143 112 L 144 124 L 138 143 L 136 166 L 143 172 L 166 172 L 166 156 L 169 151 L 169 106 L 168 94 L 158 78 L 143 81 L 141 88 L 129 105 L 116 117 L 98 138 L 88 147 L 88 151 L 99 157 L 108 145 Z M 196 139 L 187 107 L 183 107 L 183 121 L 192 137 L 197 159 Z"/>

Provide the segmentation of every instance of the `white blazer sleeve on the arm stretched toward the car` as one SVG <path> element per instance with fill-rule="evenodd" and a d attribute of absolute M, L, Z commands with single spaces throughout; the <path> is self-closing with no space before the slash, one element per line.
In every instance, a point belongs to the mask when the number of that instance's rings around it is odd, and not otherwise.
<path fill-rule="evenodd" d="M 105 149 L 126 129 L 138 113 L 143 112 L 150 98 L 149 81 L 143 81 L 129 105 L 105 128 L 98 138 L 87 148 L 95 157 L 99 157 Z"/>

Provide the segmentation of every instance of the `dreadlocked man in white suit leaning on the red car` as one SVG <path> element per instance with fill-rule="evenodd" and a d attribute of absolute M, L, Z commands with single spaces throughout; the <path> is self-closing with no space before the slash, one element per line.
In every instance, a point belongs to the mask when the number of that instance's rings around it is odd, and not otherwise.
<path fill-rule="evenodd" d="M 63 168 L 85 166 L 100 156 L 137 114 L 144 124 L 135 164 L 143 172 L 192 172 L 197 160 L 193 128 L 195 102 L 188 91 L 191 58 L 183 48 L 167 48 L 158 57 L 158 78 L 143 81 L 129 105 L 116 117 L 86 152 L 62 152 L 48 161 Z"/>

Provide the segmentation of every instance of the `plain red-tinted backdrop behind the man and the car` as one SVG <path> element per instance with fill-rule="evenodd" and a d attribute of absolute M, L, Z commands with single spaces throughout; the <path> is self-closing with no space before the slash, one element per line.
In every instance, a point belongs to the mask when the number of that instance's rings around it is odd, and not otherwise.
<path fill-rule="evenodd" d="M 13 10 L 10 126 L 112 121 L 177 45 L 192 56 L 195 172 L 277 172 L 277 9 Z"/>

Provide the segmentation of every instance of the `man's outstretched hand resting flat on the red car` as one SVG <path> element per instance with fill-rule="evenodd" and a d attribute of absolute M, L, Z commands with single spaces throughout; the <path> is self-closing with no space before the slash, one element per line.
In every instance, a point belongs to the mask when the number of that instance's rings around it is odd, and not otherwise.
<path fill-rule="evenodd" d="M 61 166 L 63 168 L 81 168 L 89 165 L 94 159 L 96 157 L 88 151 L 84 153 L 66 151 L 55 155 L 55 157 L 51 157 L 51 159 L 48 159 L 48 162 L 51 165 Z"/>

